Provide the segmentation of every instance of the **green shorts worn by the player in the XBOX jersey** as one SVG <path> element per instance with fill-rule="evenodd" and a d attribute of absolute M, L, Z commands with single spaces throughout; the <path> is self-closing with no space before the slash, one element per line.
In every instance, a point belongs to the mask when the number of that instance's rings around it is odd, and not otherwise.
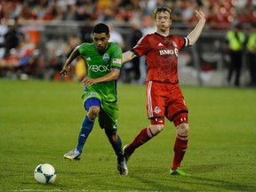
<path fill-rule="evenodd" d="M 86 100 L 96 98 L 100 100 L 100 114 L 98 116 L 98 121 L 101 129 L 110 130 L 116 132 L 117 122 L 118 122 L 118 105 L 116 102 L 108 102 L 106 100 L 101 100 L 98 92 L 83 92 L 82 100 L 85 103 Z"/>

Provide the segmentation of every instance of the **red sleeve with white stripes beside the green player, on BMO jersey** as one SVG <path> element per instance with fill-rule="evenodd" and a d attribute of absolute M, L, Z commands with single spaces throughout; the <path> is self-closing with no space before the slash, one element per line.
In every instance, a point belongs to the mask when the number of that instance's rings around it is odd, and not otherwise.
<path fill-rule="evenodd" d="M 147 54 L 151 50 L 150 44 L 148 42 L 148 35 L 142 36 L 138 43 L 132 48 L 131 52 L 137 56 L 142 56 Z"/>

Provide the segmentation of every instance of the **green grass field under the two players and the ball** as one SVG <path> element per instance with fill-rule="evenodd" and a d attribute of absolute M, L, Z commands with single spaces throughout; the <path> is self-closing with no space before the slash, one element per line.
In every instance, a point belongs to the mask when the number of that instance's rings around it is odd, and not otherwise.
<path fill-rule="evenodd" d="M 76 147 L 84 118 L 83 86 L 76 82 L 0 80 L 0 191 L 256 191 L 256 90 L 181 87 L 190 135 L 182 168 L 170 176 L 173 125 L 139 148 L 129 176 L 119 176 L 116 156 L 95 124 L 79 162 L 64 160 Z M 149 124 L 144 85 L 119 84 L 118 133 L 126 144 Z M 34 180 L 37 164 L 52 164 L 52 185 Z"/>

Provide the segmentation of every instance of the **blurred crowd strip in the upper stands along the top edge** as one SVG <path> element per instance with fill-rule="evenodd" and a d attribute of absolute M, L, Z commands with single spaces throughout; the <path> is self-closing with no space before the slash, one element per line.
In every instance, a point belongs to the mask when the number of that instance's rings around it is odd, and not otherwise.
<path fill-rule="evenodd" d="M 255 20 L 255 0 L 12 0 L 1 1 L 0 19 L 115 20 L 120 24 L 151 20 L 156 6 L 172 8 L 173 20 L 194 22 L 195 9 L 203 9 L 208 24 Z"/>

